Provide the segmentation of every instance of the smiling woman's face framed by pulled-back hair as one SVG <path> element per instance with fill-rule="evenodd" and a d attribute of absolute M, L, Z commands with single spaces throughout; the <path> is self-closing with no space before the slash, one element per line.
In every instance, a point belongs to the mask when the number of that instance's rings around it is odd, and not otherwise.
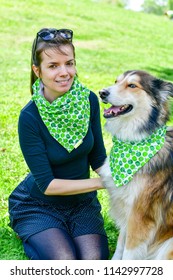
<path fill-rule="evenodd" d="M 70 46 L 62 46 L 63 53 L 48 49 L 41 53 L 41 65 L 33 65 L 36 76 L 44 85 L 44 96 L 52 102 L 66 93 L 72 86 L 76 74 L 75 58 Z"/>

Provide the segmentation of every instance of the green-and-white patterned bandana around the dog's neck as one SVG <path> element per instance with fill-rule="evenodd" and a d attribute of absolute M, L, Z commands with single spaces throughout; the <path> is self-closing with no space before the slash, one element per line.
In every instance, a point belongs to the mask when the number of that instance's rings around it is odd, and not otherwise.
<path fill-rule="evenodd" d="M 116 187 L 126 185 L 164 145 L 166 126 L 139 142 L 123 142 L 113 137 L 110 169 Z"/>

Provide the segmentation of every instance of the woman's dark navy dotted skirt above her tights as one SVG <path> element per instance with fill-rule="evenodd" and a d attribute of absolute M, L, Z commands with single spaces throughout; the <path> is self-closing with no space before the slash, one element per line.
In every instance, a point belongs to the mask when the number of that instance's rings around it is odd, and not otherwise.
<path fill-rule="evenodd" d="M 60 205 L 31 196 L 24 180 L 9 197 L 9 214 L 10 226 L 23 241 L 49 228 L 66 230 L 72 238 L 106 235 L 101 205 L 93 192 L 77 204 Z"/>

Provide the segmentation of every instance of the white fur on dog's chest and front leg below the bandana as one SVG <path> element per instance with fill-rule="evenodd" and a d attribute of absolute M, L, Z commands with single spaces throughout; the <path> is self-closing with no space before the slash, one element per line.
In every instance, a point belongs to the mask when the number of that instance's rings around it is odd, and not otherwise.
<path fill-rule="evenodd" d="M 125 249 L 125 242 L 132 208 L 147 184 L 147 177 L 137 173 L 127 185 L 116 187 L 109 167 L 109 158 L 106 159 L 105 164 L 102 166 L 100 175 L 110 195 L 110 215 L 120 229 L 113 259 L 141 259 L 141 252 L 143 256 L 145 253 L 142 250 L 140 250 L 140 253 L 138 250 L 134 250 L 133 253 L 130 251 L 129 253 Z"/>

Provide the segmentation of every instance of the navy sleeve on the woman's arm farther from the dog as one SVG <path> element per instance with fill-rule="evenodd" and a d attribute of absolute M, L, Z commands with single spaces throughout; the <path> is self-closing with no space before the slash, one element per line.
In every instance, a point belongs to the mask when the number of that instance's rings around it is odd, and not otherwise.
<path fill-rule="evenodd" d="M 40 136 L 38 120 L 32 114 L 21 112 L 18 122 L 19 143 L 25 161 L 42 193 L 54 179 L 46 154 L 43 139 Z"/>

